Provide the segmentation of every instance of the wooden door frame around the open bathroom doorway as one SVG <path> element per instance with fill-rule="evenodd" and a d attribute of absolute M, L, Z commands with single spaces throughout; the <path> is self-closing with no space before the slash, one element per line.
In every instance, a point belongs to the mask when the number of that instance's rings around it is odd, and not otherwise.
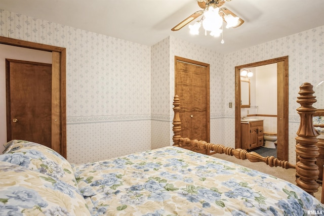
<path fill-rule="evenodd" d="M 288 56 L 235 67 L 235 148 L 241 148 L 240 69 L 277 63 L 277 158 L 289 159 L 289 86 Z"/>

